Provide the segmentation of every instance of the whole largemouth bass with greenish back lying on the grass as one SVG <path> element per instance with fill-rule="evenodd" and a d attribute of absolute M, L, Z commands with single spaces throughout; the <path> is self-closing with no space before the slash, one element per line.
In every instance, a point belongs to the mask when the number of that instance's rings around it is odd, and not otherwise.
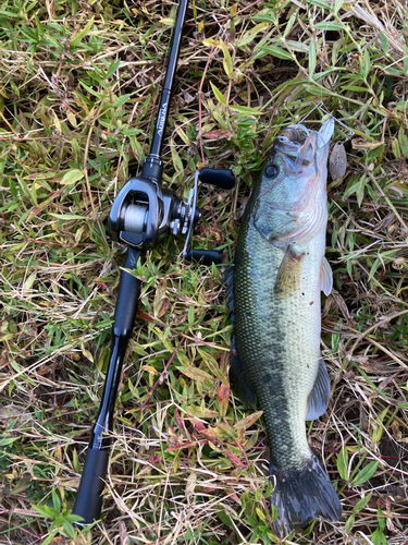
<path fill-rule="evenodd" d="M 331 383 L 320 351 L 327 156 L 334 121 L 295 124 L 276 137 L 243 215 L 224 281 L 234 326 L 228 376 L 263 411 L 270 443 L 271 504 L 280 537 L 311 520 L 338 521 L 339 498 L 308 445 L 305 421 L 327 408 Z"/>

